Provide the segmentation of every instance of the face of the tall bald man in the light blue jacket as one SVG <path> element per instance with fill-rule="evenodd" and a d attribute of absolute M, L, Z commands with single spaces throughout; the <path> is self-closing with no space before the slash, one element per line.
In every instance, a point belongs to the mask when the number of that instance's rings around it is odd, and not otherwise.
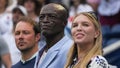
<path fill-rule="evenodd" d="M 63 20 L 60 11 L 54 6 L 45 6 L 40 12 L 41 31 L 45 36 L 53 36 L 64 30 Z"/>

